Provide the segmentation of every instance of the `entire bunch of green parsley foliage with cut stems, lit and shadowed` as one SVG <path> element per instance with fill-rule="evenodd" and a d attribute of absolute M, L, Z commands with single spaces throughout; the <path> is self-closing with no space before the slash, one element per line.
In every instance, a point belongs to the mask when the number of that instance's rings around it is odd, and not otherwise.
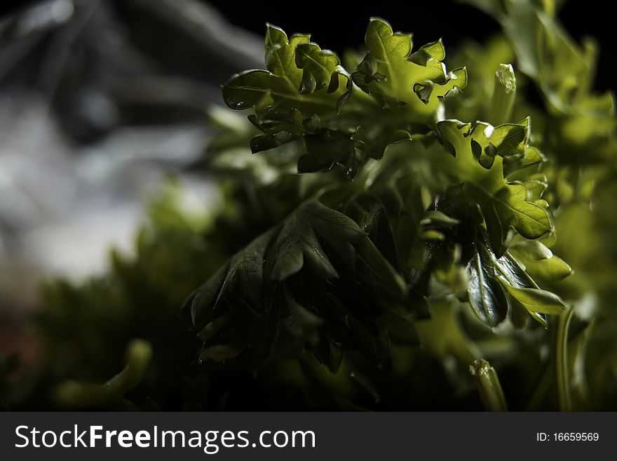
<path fill-rule="evenodd" d="M 347 69 L 268 25 L 266 69 L 223 87 L 248 121 L 211 113 L 222 206 L 168 196 L 135 258 L 51 284 L 39 389 L 103 382 L 143 338 L 121 394 L 145 409 L 614 408 L 612 96 L 553 2 L 471 3 L 505 38 L 452 72 L 377 18 Z"/>

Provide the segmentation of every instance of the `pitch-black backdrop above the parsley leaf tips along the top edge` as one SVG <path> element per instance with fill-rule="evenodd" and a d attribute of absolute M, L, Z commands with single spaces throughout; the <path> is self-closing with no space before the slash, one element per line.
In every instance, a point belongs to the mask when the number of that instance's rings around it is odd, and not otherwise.
<path fill-rule="evenodd" d="M 120 8 L 123 0 L 116 0 Z M 372 16 L 388 20 L 394 29 L 413 32 L 416 46 L 444 39 L 446 50 L 466 38 L 482 41 L 499 31 L 488 15 L 454 0 L 210 0 L 233 25 L 262 36 L 266 22 L 286 32 L 311 32 L 313 41 L 337 53 L 360 46 L 367 22 Z M 4 0 L 0 15 L 36 1 Z M 593 36 L 600 46 L 597 88 L 614 90 L 611 46 L 615 43 L 614 15 L 611 2 L 604 0 L 567 0 L 559 16 L 571 36 L 580 41 Z M 1 52 L 1 44 L 0 44 Z"/>

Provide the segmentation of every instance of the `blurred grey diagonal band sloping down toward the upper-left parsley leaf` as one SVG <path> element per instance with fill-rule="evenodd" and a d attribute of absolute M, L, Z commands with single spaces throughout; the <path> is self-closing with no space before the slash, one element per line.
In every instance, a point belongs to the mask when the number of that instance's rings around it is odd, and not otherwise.
<path fill-rule="evenodd" d="M 185 30 L 212 55 L 231 67 L 264 67 L 262 39 L 231 25 L 208 4 L 196 0 L 130 1 L 156 14 L 161 20 Z"/>

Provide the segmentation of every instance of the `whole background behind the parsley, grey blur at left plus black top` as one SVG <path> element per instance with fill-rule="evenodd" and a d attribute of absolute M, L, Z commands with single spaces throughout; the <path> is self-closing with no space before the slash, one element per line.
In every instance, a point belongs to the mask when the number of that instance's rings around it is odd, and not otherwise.
<path fill-rule="evenodd" d="M 560 18 L 577 41 L 595 36 L 597 89 L 613 89 L 610 15 L 570 1 Z M 499 26 L 452 2 L 41 0 L 3 3 L 0 17 L 0 349 L 36 355 L 25 325 L 41 283 L 79 282 L 134 251 L 137 229 L 169 180 L 184 206 L 219 197 L 201 160 L 222 105 L 220 85 L 264 67 L 265 22 L 313 32 L 342 53 L 369 17 L 456 48 Z M 447 13 L 445 11 L 447 10 Z M 591 14 L 591 13 L 593 14 Z M 590 14 L 588 14 L 590 13 Z M 447 59 L 446 59 L 447 61 Z"/>

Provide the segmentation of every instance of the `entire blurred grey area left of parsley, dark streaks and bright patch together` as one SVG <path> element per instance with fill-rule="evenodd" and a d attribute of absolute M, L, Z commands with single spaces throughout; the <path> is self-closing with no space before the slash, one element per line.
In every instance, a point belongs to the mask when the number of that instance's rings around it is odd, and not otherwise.
<path fill-rule="evenodd" d="M 0 313 L 133 248 L 170 173 L 216 199 L 186 169 L 219 85 L 264 67 L 262 47 L 196 0 L 40 0 L 0 18 Z"/>

